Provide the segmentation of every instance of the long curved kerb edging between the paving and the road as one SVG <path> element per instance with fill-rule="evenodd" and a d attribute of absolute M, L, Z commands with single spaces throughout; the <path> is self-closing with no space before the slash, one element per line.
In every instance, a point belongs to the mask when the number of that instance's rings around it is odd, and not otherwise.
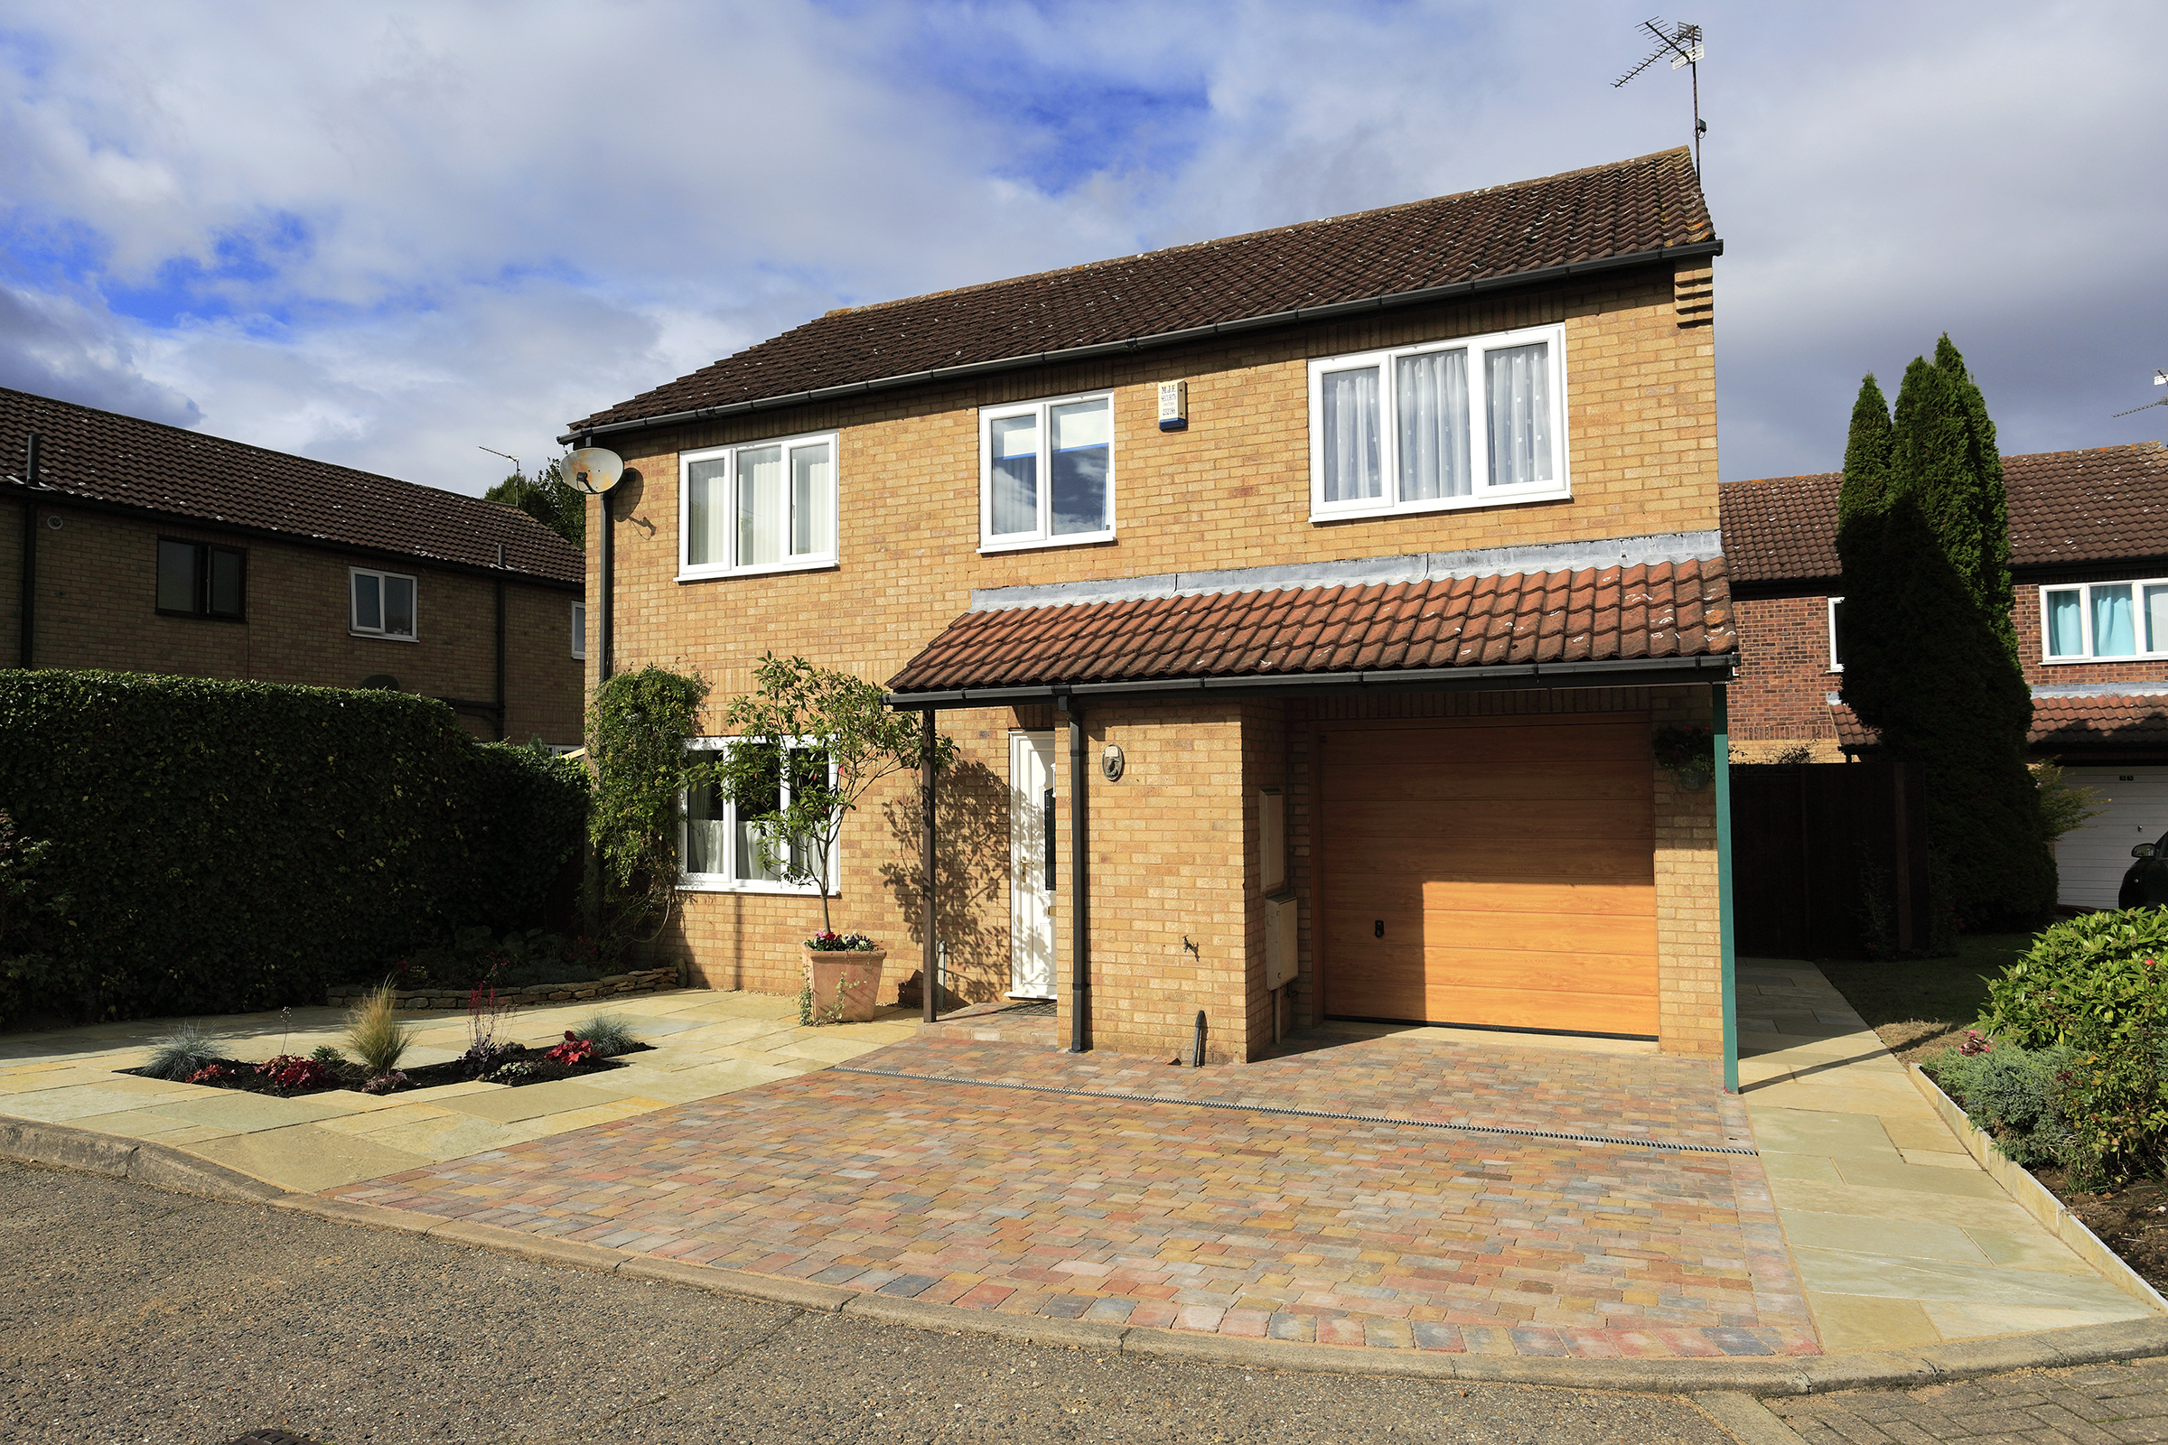
<path fill-rule="evenodd" d="M 2168 1319 L 2127 1319 L 2088 1324 L 2034 1335 L 2003 1335 L 1977 1341 L 1951 1341 L 1910 1352 L 1849 1352 L 1771 1358 L 1665 1358 L 1606 1361 L 1563 1356 L 1446 1354 L 1429 1350 L 1375 1350 L 1344 1345 L 1309 1345 L 1281 1339 L 1238 1339 L 1158 1328 L 1093 1324 L 1082 1319 L 1043 1319 L 1036 1315 L 999 1315 L 898 1300 L 861 1291 L 833 1291 L 804 1280 L 770 1278 L 741 1270 L 718 1270 L 685 1261 L 663 1261 L 631 1250 L 614 1250 L 577 1239 L 551 1239 L 496 1224 L 442 1220 L 403 1209 L 384 1209 L 356 1200 L 317 1194 L 282 1192 L 249 1174 L 208 1159 L 197 1159 L 169 1144 L 119 1140 L 69 1124 L 46 1124 L 0 1116 L 0 1157 L 22 1159 L 115 1179 L 137 1179 L 152 1187 L 180 1194 L 208 1194 L 236 1205 L 262 1205 L 310 1213 L 338 1224 L 360 1224 L 392 1233 L 427 1235 L 444 1244 L 483 1248 L 531 1259 L 544 1265 L 624 1274 L 653 1283 L 726 1293 L 759 1304 L 820 1309 L 945 1330 L 952 1335 L 993 1335 L 1045 1345 L 1069 1345 L 1134 1354 L 1140 1358 L 1179 1358 L 1201 1365 L 1249 1369 L 1290 1369 L 1322 1374 L 1403 1376 L 1433 1380 L 1468 1380 L 1485 1384 L 1548 1384 L 1561 1389 L 1622 1389 L 1643 1393 L 1747 1393 L 1747 1395 L 1817 1395 L 1849 1389 L 1910 1389 L 1919 1384 L 1971 1380 L 2012 1369 L 2057 1369 L 2103 1361 L 2153 1358 L 2168 1354 Z M 167 1179 L 186 1179 L 195 1187 L 132 1172 L 139 1157 L 160 1159 L 171 1170 Z"/>

